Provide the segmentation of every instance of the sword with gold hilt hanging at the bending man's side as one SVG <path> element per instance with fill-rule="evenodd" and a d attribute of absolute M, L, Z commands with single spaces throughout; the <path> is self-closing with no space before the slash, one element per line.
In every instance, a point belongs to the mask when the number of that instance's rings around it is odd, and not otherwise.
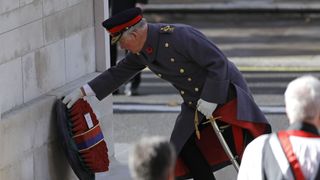
<path fill-rule="evenodd" d="M 217 135 L 219 141 L 220 141 L 220 144 L 224 150 L 224 152 L 227 154 L 230 162 L 232 163 L 233 167 L 235 168 L 235 170 L 238 172 L 239 171 L 239 164 L 238 162 L 236 161 L 236 158 L 234 157 L 234 155 L 232 154 L 226 140 L 224 139 L 223 135 L 222 135 L 222 131 L 223 130 L 220 130 L 218 125 L 217 125 L 217 122 L 216 120 L 217 119 L 220 119 L 221 116 L 219 117 L 213 117 L 211 116 L 210 119 L 207 121 L 207 122 L 204 122 L 203 124 L 207 124 L 207 123 L 211 123 L 211 126 L 215 132 L 215 134 Z M 196 109 L 196 112 L 195 112 L 195 117 L 194 117 L 194 125 L 195 125 L 195 130 L 196 130 L 196 135 L 197 135 L 197 138 L 200 139 L 200 132 L 199 132 L 199 129 L 198 129 L 198 124 L 199 124 L 199 119 L 198 119 L 198 110 Z"/>

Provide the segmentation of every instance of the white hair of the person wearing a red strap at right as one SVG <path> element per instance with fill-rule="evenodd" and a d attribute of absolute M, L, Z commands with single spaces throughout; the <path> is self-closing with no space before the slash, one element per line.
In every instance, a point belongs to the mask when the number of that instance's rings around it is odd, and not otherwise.
<path fill-rule="evenodd" d="M 306 75 L 293 80 L 284 95 L 291 123 L 311 121 L 320 115 L 320 81 L 317 78 Z"/>

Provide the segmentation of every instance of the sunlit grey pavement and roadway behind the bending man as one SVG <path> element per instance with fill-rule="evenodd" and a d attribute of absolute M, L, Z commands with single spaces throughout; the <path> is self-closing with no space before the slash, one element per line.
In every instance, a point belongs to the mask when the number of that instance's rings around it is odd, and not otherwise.
<path fill-rule="evenodd" d="M 283 92 L 292 79 L 320 77 L 318 15 L 147 15 L 149 22 L 187 23 L 208 36 L 242 71 L 257 104 L 274 131 L 288 126 Z M 97 179 L 129 180 L 128 152 L 143 136 L 169 138 L 182 101 L 169 83 L 148 69 L 142 73 L 139 96 L 113 96 L 115 157 L 110 171 Z M 236 179 L 228 166 L 219 179 Z"/>

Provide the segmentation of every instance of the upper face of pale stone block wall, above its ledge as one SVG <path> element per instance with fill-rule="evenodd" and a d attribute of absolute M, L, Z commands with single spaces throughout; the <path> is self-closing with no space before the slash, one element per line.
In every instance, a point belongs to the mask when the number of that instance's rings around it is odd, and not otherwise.
<path fill-rule="evenodd" d="M 2 112 L 95 71 L 93 1 L 1 2 Z"/>

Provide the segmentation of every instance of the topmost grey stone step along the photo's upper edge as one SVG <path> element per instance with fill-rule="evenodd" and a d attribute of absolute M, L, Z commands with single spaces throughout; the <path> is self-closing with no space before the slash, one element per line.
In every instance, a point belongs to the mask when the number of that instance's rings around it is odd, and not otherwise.
<path fill-rule="evenodd" d="M 318 1 L 150 2 L 144 13 L 320 13 Z"/>

